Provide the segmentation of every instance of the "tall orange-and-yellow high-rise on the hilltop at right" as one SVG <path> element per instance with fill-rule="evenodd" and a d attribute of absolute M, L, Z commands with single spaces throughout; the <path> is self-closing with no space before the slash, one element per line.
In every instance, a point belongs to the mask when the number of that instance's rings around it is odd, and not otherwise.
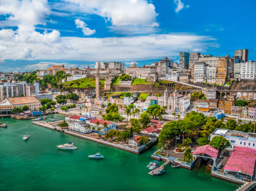
<path fill-rule="evenodd" d="M 219 58 L 219 61 L 217 66 L 215 83 L 223 85 L 227 77 L 227 65 L 228 65 L 228 59 L 230 58 L 230 56 L 226 55 L 225 57 L 218 57 L 218 58 Z"/>

